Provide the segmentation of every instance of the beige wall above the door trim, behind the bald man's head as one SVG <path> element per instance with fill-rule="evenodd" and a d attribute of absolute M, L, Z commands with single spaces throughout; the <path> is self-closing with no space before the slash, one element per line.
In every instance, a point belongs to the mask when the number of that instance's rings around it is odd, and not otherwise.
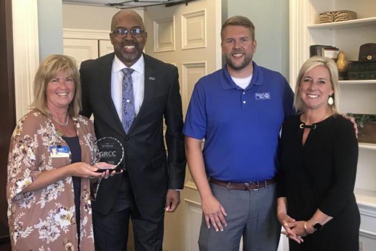
<path fill-rule="evenodd" d="M 143 19 L 142 9 L 132 10 Z M 109 31 L 111 19 L 118 11 L 113 7 L 63 4 L 63 28 Z"/>

